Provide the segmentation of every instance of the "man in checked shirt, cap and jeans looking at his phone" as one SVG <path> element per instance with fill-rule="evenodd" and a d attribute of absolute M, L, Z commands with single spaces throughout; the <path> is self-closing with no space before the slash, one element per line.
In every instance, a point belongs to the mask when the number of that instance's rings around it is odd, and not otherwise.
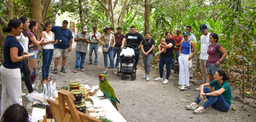
<path fill-rule="evenodd" d="M 74 73 L 77 72 L 78 67 L 81 72 L 84 72 L 84 59 L 87 53 L 88 43 L 91 44 L 91 36 L 87 33 L 88 29 L 86 26 L 83 27 L 82 32 L 79 32 L 75 37 L 76 43 L 76 66 Z"/>

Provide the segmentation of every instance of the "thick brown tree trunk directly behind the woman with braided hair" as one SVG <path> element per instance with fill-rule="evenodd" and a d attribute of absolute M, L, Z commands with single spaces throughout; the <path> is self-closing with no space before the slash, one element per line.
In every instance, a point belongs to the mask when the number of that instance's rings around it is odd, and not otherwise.
<path fill-rule="evenodd" d="M 32 8 L 31 19 L 37 21 L 38 29 L 34 33 L 37 35 L 38 40 L 41 38 L 42 26 L 40 22 L 42 21 L 42 9 L 41 9 L 41 0 L 29 0 Z"/>

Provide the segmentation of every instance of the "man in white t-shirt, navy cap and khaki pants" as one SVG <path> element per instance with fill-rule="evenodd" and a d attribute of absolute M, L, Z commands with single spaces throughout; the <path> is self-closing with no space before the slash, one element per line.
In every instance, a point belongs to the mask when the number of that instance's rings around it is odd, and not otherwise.
<path fill-rule="evenodd" d="M 199 64 L 200 69 L 202 73 L 202 84 L 209 83 L 209 76 L 206 69 L 206 63 L 208 59 L 207 50 L 209 48 L 209 45 L 211 44 L 209 41 L 210 33 L 208 32 L 208 27 L 205 24 L 200 25 L 200 31 L 203 33 L 203 35 L 200 38 L 201 41 L 201 53 L 199 56 Z M 196 88 L 197 91 L 200 91 L 200 87 Z"/>

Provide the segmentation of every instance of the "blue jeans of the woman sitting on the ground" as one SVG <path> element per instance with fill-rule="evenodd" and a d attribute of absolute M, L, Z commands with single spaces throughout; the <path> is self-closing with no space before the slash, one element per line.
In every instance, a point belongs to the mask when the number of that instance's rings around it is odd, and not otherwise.
<path fill-rule="evenodd" d="M 210 92 L 211 92 L 210 89 L 208 87 L 204 86 L 204 93 L 210 93 Z M 200 97 L 200 94 L 198 95 L 197 99 L 195 100 L 195 102 L 197 104 L 199 104 L 201 101 L 201 100 L 199 100 L 199 97 Z M 212 105 L 213 108 L 215 108 L 219 111 L 227 112 L 230 108 L 228 103 L 223 98 L 222 94 L 219 96 L 206 96 L 206 98 L 208 99 L 208 101 L 203 105 L 203 107 L 205 109 L 207 107 L 209 107 L 210 105 Z"/>

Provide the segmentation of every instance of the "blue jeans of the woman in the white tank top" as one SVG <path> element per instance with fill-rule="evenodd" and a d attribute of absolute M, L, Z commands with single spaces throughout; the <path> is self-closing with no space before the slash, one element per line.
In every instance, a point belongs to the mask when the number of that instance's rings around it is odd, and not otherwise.
<path fill-rule="evenodd" d="M 42 65 L 42 77 L 43 80 L 48 78 L 49 68 L 52 62 L 53 49 L 43 49 L 43 65 Z"/>

